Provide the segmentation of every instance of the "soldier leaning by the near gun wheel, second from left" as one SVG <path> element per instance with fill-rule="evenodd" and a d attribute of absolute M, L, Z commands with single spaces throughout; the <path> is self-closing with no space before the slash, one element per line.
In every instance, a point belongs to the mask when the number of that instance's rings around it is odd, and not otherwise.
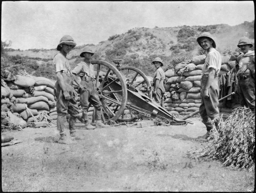
<path fill-rule="evenodd" d="M 102 105 L 99 101 L 99 93 L 96 90 L 95 85 L 95 75 L 93 65 L 90 62 L 91 57 L 94 55 L 92 49 L 86 46 L 81 52 L 80 57 L 84 57 L 84 60 L 76 65 L 72 73 L 76 75 L 75 80 L 79 86 L 80 92 L 80 103 L 83 112 L 83 119 L 85 121 L 86 129 L 94 129 L 96 127 L 109 127 L 109 125 L 104 125 L 101 121 L 101 109 Z M 79 83 L 79 78 L 81 77 L 81 83 Z M 88 120 L 88 108 L 89 102 L 92 103 L 96 109 L 95 113 L 95 126 L 92 126 Z"/>

